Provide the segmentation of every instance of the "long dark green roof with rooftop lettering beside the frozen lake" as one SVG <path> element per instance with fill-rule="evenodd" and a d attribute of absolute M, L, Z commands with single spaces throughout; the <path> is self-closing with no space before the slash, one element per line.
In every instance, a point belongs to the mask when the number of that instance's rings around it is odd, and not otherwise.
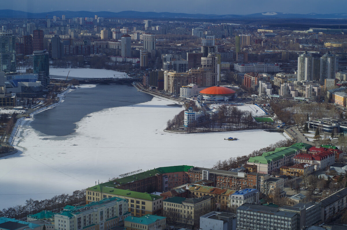
<path fill-rule="evenodd" d="M 138 180 L 143 180 L 146 178 L 150 178 L 155 176 L 155 174 L 163 174 L 163 173 L 171 173 L 171 172 L 188 172 L 190 168 L 193 166 L 189 165 L 177 165 L 177 166 L 169 166 L 169 167 L 160 167 L 152 170 L 148 170 L 145 172 L 140 172 L 134 175 L 130 175 L 127 177 L 119 178 L 116 179 L 113 182 L 116 182 L 117 184 L 126 184 L 132 181 L 138 181 Z"/>

